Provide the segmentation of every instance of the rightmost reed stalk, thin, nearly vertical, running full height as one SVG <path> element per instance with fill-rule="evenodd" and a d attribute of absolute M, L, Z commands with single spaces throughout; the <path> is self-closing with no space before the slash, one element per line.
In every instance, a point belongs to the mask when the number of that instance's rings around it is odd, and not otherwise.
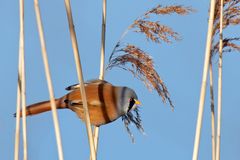
<path fill-rule="evenodd" d="M 223 49 L 223 5 L 220 3 L 220 26 L 219 26 L 219 60 L 218 60 L 218 113 L 217 113 L 217 146 L 216 160 L 220 160 L 220 142 L 221 142 L 221 114 L 222 114 L 222 49 Z"/>

